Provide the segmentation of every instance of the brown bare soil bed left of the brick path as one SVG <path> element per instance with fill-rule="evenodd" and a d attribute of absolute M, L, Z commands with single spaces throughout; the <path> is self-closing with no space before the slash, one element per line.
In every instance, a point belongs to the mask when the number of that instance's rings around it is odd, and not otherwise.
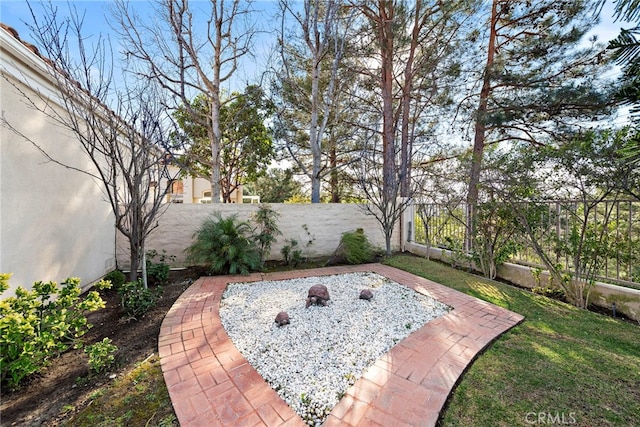
<path fill-rule="evenodd" d="M 193 281 L 203 275 L 201 269 L 171 271 L 168 284 L 162 285 L 162 298 L 144 317 L 127 321 L 120 307 L 120 297 L 113 290 L 102 291 L 106 307 L 87 316 L 93 328 L 84 337 L 93 344 L 109 337 L 118 346 L 119 374 L 134 367 L 158 351 L 160 325 L 175 300 Z M 109 375 L 89 375 L 88 358 L 83 350 L 71 350 L 52 361 L 43 372 L 29 378 L 17 391 L 2 393 L 0 425 L 57 426 L 67 405 L 80 409 L 88 396 L 105 383 Z"/>

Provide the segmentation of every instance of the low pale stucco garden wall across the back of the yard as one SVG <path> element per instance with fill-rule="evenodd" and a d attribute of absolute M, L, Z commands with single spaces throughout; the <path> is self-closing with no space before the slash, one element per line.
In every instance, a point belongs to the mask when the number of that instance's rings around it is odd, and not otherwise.
<path fill-rule="evenodd" d="M 272 204 L 272 209 L 279 215 L 278 227 L 283 233 L 273 245 L 269 259 L 281 259 L 280 249 L 287 244 L 286 240 L 296 239 L 303 254 L 308 257 L 322 257 L 333 254 L 342 233 L 363 228 L 369 240 L 384 249 L 384 235 L 380 224 L 372 215 L 365 213 L 360 205 L 355 204 Z M 155 249 L 159 253 L 175 256 L 172 266 L 184 266 L 185 249 L 193 242 L 193 235 L 200 224 L 214 211 L 223 217 L 237 214 L 241 220 L 247 220 L 258 210 L 258 205 L 251 204 L 218 204 L 188 205 L 171 204 L 159 220 L 156 228 L 147 241 L 147 250 Z M 303 226 L 306 225 L 309 234 Z M 313 239 L 311 245 L 307 241 Z M 394 232 L 393 248 L 399 245 L 398 232 Z M 127 269 L 129 263 L 128 242 L 122 236 L 117 240 L 118 266 Z"/>

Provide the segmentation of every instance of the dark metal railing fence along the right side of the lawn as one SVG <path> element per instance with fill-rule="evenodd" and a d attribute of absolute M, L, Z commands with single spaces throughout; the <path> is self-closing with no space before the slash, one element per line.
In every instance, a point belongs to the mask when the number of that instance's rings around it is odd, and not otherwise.
<path fill-rule="evenodd" d="M 503 207 L 507 205 L 502 205 Z M 495 209 L 496 204 L 491 208 Z M 414 206 L 414 240 L 429 247 L 473 253 L 472 239 L 467 238 L 466 204 L 416 204 Z M 483 209 L 481 205 L 479 209 Z M 563 269 L 572 271 L 576 257 L 596 254 L 597 278 L 638 287 L 640 283 L 640 202 L 632 200 L 546 201 L 530 205 L 510 205 L 527 215 L 535 228 L 536 242 L 549 258 Z M 505 212 L 503 210 L 503 212 Z M 542 260 L 523 232 L 522 215 L 492 218 L 515 221 L 510 241 L 518 251 L 510 262 L 543 267 Z M 504 226 L 504 222 L 501 222 Z M 487 224 L 484 224 L 486 227 Z M 491 231 L 493 223 L 489 223 Z"/>

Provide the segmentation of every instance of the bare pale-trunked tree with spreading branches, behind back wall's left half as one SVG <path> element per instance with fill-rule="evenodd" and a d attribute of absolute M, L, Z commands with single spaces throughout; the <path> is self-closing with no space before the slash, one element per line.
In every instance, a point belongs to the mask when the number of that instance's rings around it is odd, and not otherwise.
<path fill-rule="evenodd" d="M 114 15 L 124 37 L 124 53 L 142 78 L 173 94 L 194 122 L 207 129 L 211 146 L 211 201 L 221 199 L 221 85 L 231 79 L 239 59 L 250 52 L 256 30 L 248 23 L 249 0 L 158 0 L 156 19 L 141 17 L 126 0 L 114 3 Z M 208 10 L 207 10 L 208 9 Z M 204 95 L 210 117 L 202 119 L 191 100 Z"/>

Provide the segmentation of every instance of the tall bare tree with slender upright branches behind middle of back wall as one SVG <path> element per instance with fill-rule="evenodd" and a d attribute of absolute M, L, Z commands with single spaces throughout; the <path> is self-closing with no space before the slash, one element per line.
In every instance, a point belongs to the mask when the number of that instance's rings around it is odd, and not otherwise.
<path fill-rule="evenodd" d="M 311 181 L 311 203 L 320 202 L 323 177 L 338 168 L 331 160 L 335 146 L 330 141 L 330 120 L 334 125 L 338 121 L 339 71 L 353 15 L 349 11 L 345 15 L 342 3 L 341 0 L 305 0 L 303 4 L 280 1 L 281 70 L 275 73 L 274 82 L 282 100 L 278 117 L 281 133 L 287 134 L 284 138 L 287 151 Z M 288 36 L 286 24 L 291 20 L 293 36 Z M 297 129 L 294 123 L 305 128 Z M 289 129 L 284 130 L 285 127 Z M 300 146 L 305 149 L 299 151 Z M 304 161 L 308 151 L 311 165 Z M 323 158 L 329 162 L 328 168 L 323 165 Z"/>

